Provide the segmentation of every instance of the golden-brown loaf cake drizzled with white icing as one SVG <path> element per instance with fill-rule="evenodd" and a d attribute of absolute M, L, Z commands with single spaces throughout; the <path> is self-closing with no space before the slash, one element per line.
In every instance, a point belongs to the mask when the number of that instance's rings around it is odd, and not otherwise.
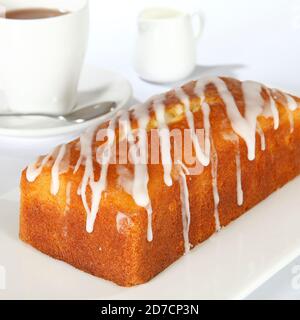
<path fill-rule="evenodd" d="M 299 106 L 212 77 L 118 112 L 23 171 L 20 238 L 118 285 L 145 283 L 299 174 Z"/>

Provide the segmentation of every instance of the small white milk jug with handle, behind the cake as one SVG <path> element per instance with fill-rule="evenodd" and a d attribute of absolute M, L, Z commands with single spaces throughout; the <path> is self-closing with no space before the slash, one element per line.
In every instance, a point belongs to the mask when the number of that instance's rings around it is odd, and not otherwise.
<path fill-rule="evenodd" d="M 193 27 L 198 20 L 198 31 Z M 202 33 L 200 13 L 189 15 L 170 8 L 149 8 L 138 17 L 135 68 L 148 81 L 181 80 L 196 66 L 197 41 Z"/>

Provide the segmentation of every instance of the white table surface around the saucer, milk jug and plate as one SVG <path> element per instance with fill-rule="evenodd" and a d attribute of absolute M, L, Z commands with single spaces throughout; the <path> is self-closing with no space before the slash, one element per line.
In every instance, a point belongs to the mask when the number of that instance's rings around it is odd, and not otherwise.
<path fill-rule="evenodd" d="M 133 101 L 145 100 L 174 86 L 143 82 L 132 67 L 136 15 L 143 7 L 157 3 L 172 3 L 190 12 L 200 9 L 206 17 L 199 41 L 198 66 L 192 78 L 204 74 L 229 75 L 300 95 L 299 0 L 90 0 L 91 33 L 86 62 L 127 77 L 134 89 Z M 37 155 L 71 138 L 0 137 L 0 195 L 18 186 L 22 168 Z M 249 298 L 299 299 L 300 288 L 295 285 L 298 269 L 300 257 Z"/>

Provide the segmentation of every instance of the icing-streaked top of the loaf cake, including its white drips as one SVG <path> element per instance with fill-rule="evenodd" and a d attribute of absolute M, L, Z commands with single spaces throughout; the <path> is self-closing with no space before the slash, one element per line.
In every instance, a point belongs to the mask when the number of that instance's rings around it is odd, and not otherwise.
<path fill-rule="evenodd" d="M 152 165 L 149 153 L 152 155 L 155 147 L 153 141 L 156 141 L 159 149 L 158 162 L 164 172 L 162 183 L 171 186 L 174 179 L 180 180 L 182 211 L 185 216 L 185 247 L 188 250 L 189 196 L 186 176 L 191 172 L 186 159 L 175 152 L 178 142 L 174 138 L 176 129 L 177 132 L 179 129 L 179 133 L 187 130 L 188 139 L 192 144 L 192 154 L 202 169 L 212 164 L 214 202 L 217 206 L 218 150 L 214 145 L 215 137 L 231 140 L 237 146 L 237 155 L 241 139 L 247 146 L 248 159 L 252 161 L 255 158 L 258 138 L 262 150 L 265 148 L 264 128 L 272 126 L 276 134 L 280 126 L 280 109 L 289 114 L 290 131 L 293 131 L 293 112 L 299 105 L 299 98 L 253 81 L 240 82 L 217 77 L 193 81 L 181 88 L 155 96 L 128 111 L 122 110 L 100 127 L 88 129 L 78 140 L 55 148 L 48 156 L 40 157 L 35 164 L 27 168 L 27 179 L 33 182 L 44 167 L 51 167 L 51 193 L 55 195 L 59 191 L 60 174 L 70 169 L 74 174 L 82 171 L 78 192 L 87 212 L 87 231 L 92 232 L 102 194 L 107 188 L 109 166 L 129 161 L 132 179 L 123 187 L 138 206 L 147 210 L 148 240 L 151 241 L 152 208 L 148 194 L 148 167 Z M 156 140 L 153 136 L 149 138 L 153 130 L 157 133 Z M 119 147 L 116 149 L 117 144 Z M 123 153 L 120 151 L 121 145 L 125 148 Z M 184 144 L 181 149 L 185 149 Z M 119 171 L 121 177 L 127 174 Z M 174 171 L 177 174 L 174 174 Z M 199 169 L 198 174 L 200 173 Z M 237 177 L 239 175 L 237 157 Z M 238 180 L 237 198 L 241 204 L 243 194 L 241 179 Z M 87 199 L 87 190 L 91 193 L 90 199 Z M 216 229 L 219 229 L 217 215 L 215 219 Z"/>

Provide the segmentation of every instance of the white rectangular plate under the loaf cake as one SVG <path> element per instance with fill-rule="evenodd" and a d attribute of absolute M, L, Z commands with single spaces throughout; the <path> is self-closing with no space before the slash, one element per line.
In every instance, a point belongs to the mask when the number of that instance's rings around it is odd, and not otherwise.
<path fill-rule="evenodd" d="M 22 243 L 18 207 L 17 191 L 0 197 L 0 266 L 6 271 L 0 300 L 239 299 L 300 254 L 300 178 L 133 288 L 88 275 Z"/>

